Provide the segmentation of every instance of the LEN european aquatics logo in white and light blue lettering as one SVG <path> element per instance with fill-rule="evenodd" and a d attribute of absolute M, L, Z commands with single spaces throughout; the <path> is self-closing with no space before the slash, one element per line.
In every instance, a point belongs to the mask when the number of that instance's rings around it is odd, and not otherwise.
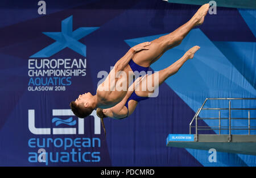
<path fill-rule="evenodd" d="M 51 122 L 55 125 L 53 128 L 36 128 L 35 110 L 28 110 L 28 129 L 34 134 L 28 139 L 28 162 L 45 165 L 100 162 L 101 139 L 97 135 L 101 134 L 101 121 L 96 111 L 91 115 L 94 117 L 94 136 L 85 137 L 84 119 L 78 118 L 77 132 L 77 121 L 70 109 L 52 110 Z M 65 116 L 68 119 L 60 118 Z"/>

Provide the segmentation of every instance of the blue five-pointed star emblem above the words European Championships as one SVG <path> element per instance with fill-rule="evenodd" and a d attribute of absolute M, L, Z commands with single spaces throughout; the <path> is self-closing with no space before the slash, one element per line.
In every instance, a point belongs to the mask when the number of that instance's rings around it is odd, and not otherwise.
<path fill-rule="evenodd" d="M 67 47 L 86 57 L 86 45 L 80 43 L 78 40 L 97 30 L 98 27 L 80 27 L 75 31 L 72 28 L 73 15 L 61 21 L 61 32 L 43 32 L 44 35 L 56 40 L 56 42 L 30 57 L 50 57 Z"/>

